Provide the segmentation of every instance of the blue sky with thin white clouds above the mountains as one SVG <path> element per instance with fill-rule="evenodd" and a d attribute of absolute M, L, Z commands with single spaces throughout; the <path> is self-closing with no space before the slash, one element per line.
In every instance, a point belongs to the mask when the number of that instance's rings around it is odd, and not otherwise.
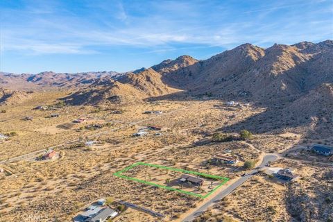
<path fill-rule="evenodd" d="M 246 42 L 333 39 L 333 0 L 1 0 L 0 70 L 130 71 Z"/>

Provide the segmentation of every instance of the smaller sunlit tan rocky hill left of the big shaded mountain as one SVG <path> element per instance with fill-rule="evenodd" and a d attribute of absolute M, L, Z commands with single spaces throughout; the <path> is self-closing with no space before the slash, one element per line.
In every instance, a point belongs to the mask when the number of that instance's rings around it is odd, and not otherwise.
<path fill-rule="evenodd" d="M 161 74 L 153 69 L 145 69 L 139 74 L 127 74 L 118 80 L 101 80 L 87 89 L 80 90 L 65 98 L 69 103 L 140 103 L 153 96 L 178 92 L 168 87 L 161 80 Z"/>

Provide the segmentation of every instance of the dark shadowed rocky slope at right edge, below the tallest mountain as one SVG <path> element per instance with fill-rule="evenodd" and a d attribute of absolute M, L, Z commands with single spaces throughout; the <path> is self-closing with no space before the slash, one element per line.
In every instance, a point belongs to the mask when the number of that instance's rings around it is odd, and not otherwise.
<path fill-rule="evenodd" d="M 280 107 L 267 108 L 259 113 L 232 126 L 221 130 L 237 131 L 249 129 L 255 133 L 266 133 L 287 128 L 310 129 L 311 136 L 332 133 L 333 127 L 333 84 L 323 84 L 291 103 L 282 103 Z"/>

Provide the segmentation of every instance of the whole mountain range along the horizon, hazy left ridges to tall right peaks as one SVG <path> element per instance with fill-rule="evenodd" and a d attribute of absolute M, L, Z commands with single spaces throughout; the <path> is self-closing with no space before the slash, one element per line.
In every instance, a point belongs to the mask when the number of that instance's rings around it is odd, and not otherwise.
<path fill-rule="evenodd" d="M 2 87 L 78 87 L 72 103 L 128 103 L 157 96 L 209 94 L 266 103 L 294 101 L 324 83 L 333 83 L 333 41 L 242 44 L 207 60 L 180 56 L 148 69 L 78 74 L 0 73 Z"/>

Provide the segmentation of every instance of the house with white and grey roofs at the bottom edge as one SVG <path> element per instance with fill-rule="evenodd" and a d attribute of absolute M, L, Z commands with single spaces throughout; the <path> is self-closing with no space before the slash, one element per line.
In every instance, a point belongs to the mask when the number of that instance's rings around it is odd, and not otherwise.
<path fill-rule="evenodd" d="M 105 222 L 118 215 L 116 210 L 105 206 L 105 200 L 98 200 L 90 205 L 84 212 L 74 217 L 74 222 Z"/>

